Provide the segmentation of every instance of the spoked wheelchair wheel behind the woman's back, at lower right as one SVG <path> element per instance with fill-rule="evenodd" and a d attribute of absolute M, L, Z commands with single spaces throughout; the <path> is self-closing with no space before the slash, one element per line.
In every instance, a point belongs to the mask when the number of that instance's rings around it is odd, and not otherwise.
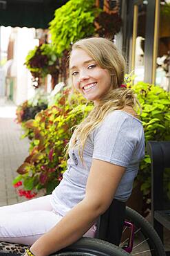
<path fill-rule="evenodd" d="M 134 245 L 131 255 L 138 256 L 166 256 L 164 246 L 156 230 L 138 212 L 126 208 L 126 221 L 134 223 Z M 120 247 L 126 248 L 128 228 L 123 230 Z"/>

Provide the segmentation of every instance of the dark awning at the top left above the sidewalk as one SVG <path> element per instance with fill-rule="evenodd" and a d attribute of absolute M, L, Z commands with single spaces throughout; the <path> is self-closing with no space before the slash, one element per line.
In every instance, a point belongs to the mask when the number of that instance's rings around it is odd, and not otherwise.
<path fill-rule="evenodd" d="M 68 0 L 0 0 L 0 26 L 47 28 Z"/>

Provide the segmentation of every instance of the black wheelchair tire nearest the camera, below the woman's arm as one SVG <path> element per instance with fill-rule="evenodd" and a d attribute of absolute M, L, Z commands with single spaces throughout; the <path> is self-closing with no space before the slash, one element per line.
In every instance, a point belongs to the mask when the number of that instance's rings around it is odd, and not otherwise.
<path fill-rule="evenodd" d="M 110 244 L 100 239 L 83 237 L 76 243 L 60 250 L 53 256 L 129 256 L 129 253 L 114 244 Z"/>

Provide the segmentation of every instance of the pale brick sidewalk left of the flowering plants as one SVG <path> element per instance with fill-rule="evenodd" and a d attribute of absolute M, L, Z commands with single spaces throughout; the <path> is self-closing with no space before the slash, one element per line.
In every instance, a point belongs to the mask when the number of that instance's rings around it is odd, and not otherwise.
<path fill-rule="evenodd" d="M 17 196 L 12 180 L 28 156 L 28 139 L 20 139 L 21 126 L 14 122 L 16 106 L 0 99 L 0 206 L 26 201 Z"/>

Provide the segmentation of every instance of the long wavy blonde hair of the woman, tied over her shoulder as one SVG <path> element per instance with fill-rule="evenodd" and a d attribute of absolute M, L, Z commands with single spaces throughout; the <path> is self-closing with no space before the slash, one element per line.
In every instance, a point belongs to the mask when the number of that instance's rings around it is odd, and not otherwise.
<path fill-rule="evenodd" d="M 109 39 L 92 37 L 81 39 L 72 46 L 74 49 L 85 51 L 101 68 L 107 69 L 111 75 L 112 90 L 103 95 L 100 102 L 94 106 L 88 116 L 76 126 L 74 134 L 68 145 L 69 149 L 78 147 L 81 161 L 83 161 L 83 149 L 87 136 L 100 125 L 105 116 L 111 111 L 130 106 L 134 109 L 138 106 L 138 100 L 131 89 L 120 87 L 123 84 L 125 73 L 125 59 L 118 52 L 116 46 Z M 72 52 L 70 53 L 72 57 Z M 71 78 L 72 79 L 72 78 Z"/>

